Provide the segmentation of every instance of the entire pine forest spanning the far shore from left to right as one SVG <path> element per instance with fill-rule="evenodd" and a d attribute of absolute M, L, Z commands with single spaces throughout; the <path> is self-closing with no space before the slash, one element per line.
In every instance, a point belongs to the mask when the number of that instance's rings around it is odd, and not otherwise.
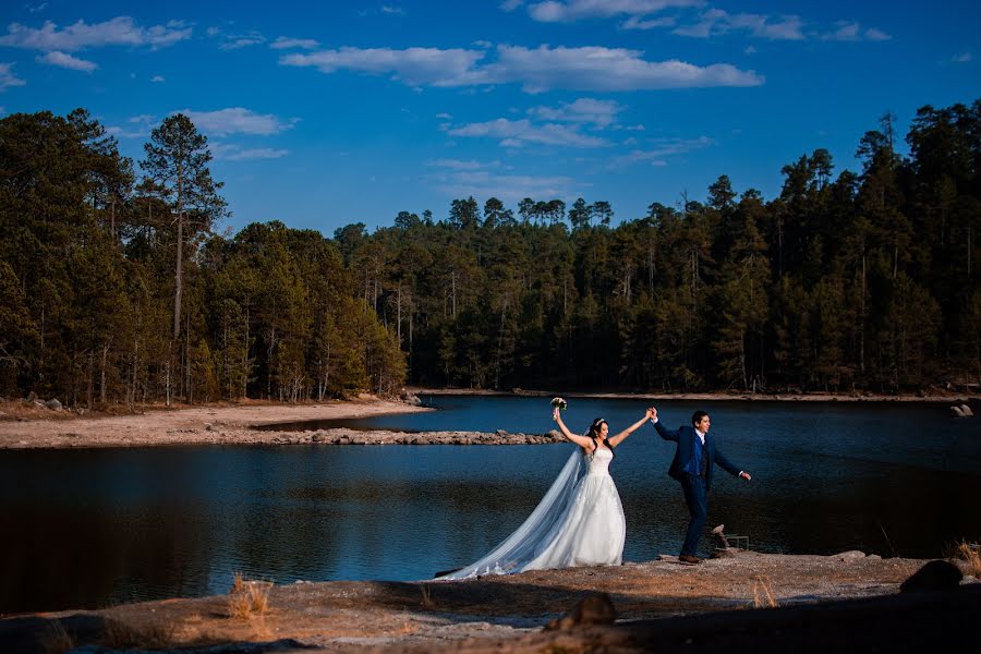
<path fill-rule="evenodd" d="M 444 219 L 234 237 L 204 137 L 143 177 L 87 113 L 0 121 L 0 388 L 73 403 L 474 388 L 917 389 L 981 382 L 981 100 L 816 149 L 779 197 L 456 199 Z M 189 155 L 191 153 L 191 155 Z"/>

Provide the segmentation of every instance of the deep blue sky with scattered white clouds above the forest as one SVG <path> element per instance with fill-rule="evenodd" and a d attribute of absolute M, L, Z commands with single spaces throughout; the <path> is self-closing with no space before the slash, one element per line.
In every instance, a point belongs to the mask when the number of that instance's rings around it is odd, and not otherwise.
<path fill-rule="evenodd" d="M 719 174 L 779 193 L 815 148 L 857 170 L 891 111 L 981 97 L 981 3 L 737 0 L 78 2 L 0 8 L 0 114 L 88 109 L 138 160 L 187 113 L 232 230 L 326 235 L 453 198 L 607 201 Z"/>

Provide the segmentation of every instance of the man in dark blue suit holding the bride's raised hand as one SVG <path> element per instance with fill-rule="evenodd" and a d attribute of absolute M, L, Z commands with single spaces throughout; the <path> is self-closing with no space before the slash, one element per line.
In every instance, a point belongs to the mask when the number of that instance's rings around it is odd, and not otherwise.
<path fill-rule="evenodd" d="M 665 440 L 674 440 L 678 444 L 675 450 L 675 459 L 668 469 L 668 474 L 681 484 L 685 492 L 685 504 L 691 521 L 688 523 L 688 533 L 685 535 L 685 544 L 681 546 L 681 555 L 678 557 L 682 564 L 702 562 L 695 556 L 699 548 L 699 540 L 705 529 L 705 520 L 708 514 L 708 491 L 712 488 L 712 469 L 718 463 L 724 470 L 746 481 L 752 479 L 748 472 L 739 470 L 715 448 L 715 440 L 708 436 L 708 427 L 712 421 L 704 411 L 695 411 L 691 416 L 690 427 L 680 427 L 673 432 L 657 420 L 657 409 L 651 408 L 654 415 L 651 422 L 654 428 Z"/>

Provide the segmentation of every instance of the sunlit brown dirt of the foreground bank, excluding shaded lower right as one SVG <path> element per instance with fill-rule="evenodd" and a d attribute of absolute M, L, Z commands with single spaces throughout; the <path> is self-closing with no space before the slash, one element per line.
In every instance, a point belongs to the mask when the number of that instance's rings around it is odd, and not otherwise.
<path fill-rule="evenodd" d="M 631 645 L 623 634 L 651 620 L 667 628 L 670 621 L 665 620 L 669 618 L 710 619 L 707 614 L 746 611 L 753 607 L 754 600 L 768 605 L 772 598 L 779 607 L 796 607 L 893 596 L 923 564 L 862 553 L 788 556 L 746 552 L 699 566 L 682 566 L 665 556 L 617 567 L 535 571 L 461 582 L 296 582 L 274 586 L 267 608 L 244 617 L 231 617 L 229 597 L 215 596 L 7 618 L 0 620 L 0 649 L 7 645 L 29 651 L 46 634 L 50 638 L 53 633 L 63 642 L 70 639 L 75 646 L 238 643 L 243 649 L 235 652 L 268 651 L 270 643 L 286 650 L 306 646 L 328 652 L 541 652 L 557 646 L 585 651 L 589 643 L 582 642 L 581 635 L 549 635 L 542 628 L 582 597 L 600 591 L 611 597 L 620 631 L 606 635 L 601 631 L 589 638 L 598 638 L 600 642 L 607 639 L 614 651 L 634 652 L 645 649 L 643 642 Z M 967 577 L 961 586 L 978 590 L 979 584 Z M 249 643 L 265 644 L 250 650 Z"/>

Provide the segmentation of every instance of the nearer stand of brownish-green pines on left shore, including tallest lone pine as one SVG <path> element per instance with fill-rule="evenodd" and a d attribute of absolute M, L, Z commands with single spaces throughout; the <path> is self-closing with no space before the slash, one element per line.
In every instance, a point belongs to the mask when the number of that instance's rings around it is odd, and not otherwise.
<path fill-rule="evenodd" d="M 225 214 L 183 116 L 132 162 L 84 110 L 0 120 L 0 391 L 95 407 L 393 392 L 404 356 L 318 232 Z M 175 256 L 177 255 L 177 256 Z M 356 316 L 356 319 L 351 319 Z"/>

